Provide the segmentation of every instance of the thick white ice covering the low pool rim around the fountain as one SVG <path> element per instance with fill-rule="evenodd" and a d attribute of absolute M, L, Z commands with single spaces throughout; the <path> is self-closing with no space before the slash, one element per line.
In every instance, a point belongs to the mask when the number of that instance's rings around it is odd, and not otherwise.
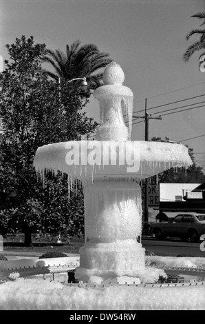
<path fill-rule="evenodd" d="M 205 268 L 205 258 L 199 257 L 146 256 L 146 262 Z M 39 277 L 41 279 L 35 276 L 34 279 L 19 278 L 2 283 L 0 310 L 205 310 L 204 285 L 69 287 Z M 61 274 L 59 280 L 63 278 Z"/>

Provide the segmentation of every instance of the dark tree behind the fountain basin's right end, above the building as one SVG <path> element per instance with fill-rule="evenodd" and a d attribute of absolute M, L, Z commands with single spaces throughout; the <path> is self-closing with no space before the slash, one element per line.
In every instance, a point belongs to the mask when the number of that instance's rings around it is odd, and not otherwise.
<path fill-rule="evenodd" d="M 165 139 L 162 140 L 160 137 L 153 137 L 151 141 L 169 142 L 169 138 L 165 137 Z M 184 170 L 184 168 L 170 168 L 158 175 L 158 181 L 160 183 L 204 183 L 205 174 L 203 168 L 197 166 L 194 161 L 193 148 L 188 148 L 188 154 L 193 161 L 193 165 L 191 165 L 188 170 Z"/>

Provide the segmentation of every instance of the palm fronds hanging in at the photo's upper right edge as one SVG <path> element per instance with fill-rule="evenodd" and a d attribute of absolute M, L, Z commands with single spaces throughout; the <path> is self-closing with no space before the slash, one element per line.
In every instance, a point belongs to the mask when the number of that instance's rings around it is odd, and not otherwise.
<path fill-rule="evenodd" d="M 204 22 L 200 25 L 203 26 L 205 25 L 205 12 L 197 12 L 197 14 L 193 14 L 193 16 L 191 17 L 197 17 L 198 19 L 204 19 Z M 183 59 L 185 62 L 188 62 L 188 60 L 190 59 L 190 57 L 197 51 L 200 50 L 205 50 L 205 28 L 204 29 L 194 29 L 191 30 L 191 32 L 189 32 L 186 35 L 186 40 L 188 41 L 188 39 L 193 36 L 193 35 L 199 35 L 199 40 L 195 41 L 195 43 L 193 43 L 192 45 L 190 45 L 186 52 L 184 52 L 183 55 Z M 205 52 L 203 52 L 202 54 L 200 54 L 199 59 L 201 59 L 201 57 L 205 54 Z"/>

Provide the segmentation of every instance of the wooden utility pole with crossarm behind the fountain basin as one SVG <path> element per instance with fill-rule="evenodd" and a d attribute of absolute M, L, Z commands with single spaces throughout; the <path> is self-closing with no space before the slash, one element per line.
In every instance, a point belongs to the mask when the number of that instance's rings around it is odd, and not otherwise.
<path fill-rule="evenodd" d="M 149 141 L 149 119 L 162 119 L 161 116 L 151 117 L 147 112 L 147 98 L 145 99 L 144 116 L 133 116 L 135 118 L 144 118 L 145 122 L 145 141 Z M 149 179 L 145 179 L 145 191 L 144 191 L 144 234 L 148 234 L 149 225 Z"/>

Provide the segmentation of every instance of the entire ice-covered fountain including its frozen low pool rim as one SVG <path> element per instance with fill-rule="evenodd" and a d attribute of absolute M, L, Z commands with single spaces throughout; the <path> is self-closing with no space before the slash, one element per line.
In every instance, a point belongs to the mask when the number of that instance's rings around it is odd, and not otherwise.
<path fill-rule="evenodd" d="M 45 145 L 37 150 L 34 159 L 42 179 L 46 170 L 52 170 L 68 175 L 69 190 L 76 190 L 79 180 L 83 183 L 85 244 L 80 248 L 80 265 L 76 268 L 79 285 L 68 287 L 42 280 L 39 283 L 38 279 L 4 283 L 5 289 L 0 285 L 0 292 L 6 296 L 2 297 L 6 306 L 0 294 L 0 309 L 204 309 L 204 281 L 198 286 L 183 283 L 172 289 L 155 284 L 160 276 L 166 277 L 169 265 L 174 264 L 173 272 L 177 270 L 175 265 L 191 267 L 194 261 L 201 267 L 205 266 L 204 258 L 170 261 L 164 257 L 160 259 L 161 265 L 155 263 L 159 266 L 145 264 L 145 251 L 137 240 L 142 232 L 139 183 L 172 167 L 186 170 L 192 161 L 182 144 L 130 140 L 133 92 L 122 85 L 124 79 L 120 65 L 115 62 L 107 65 L 104 85 L 94 92 L 100 103 L 100 126 L 95 141 Z M 122 115 L 124 111 L 128 128 Z M 149 258 L 151 265 L 152 256 Z M 163 264 L 168 269 L 166 272 Z M 186 273 L 184 268 L 180 269 Z M 45 274 L 51 269 L 43 267 L 41 271 Z M 52 271 L 60 270 L 52 268 Z M 203 268 L 198 272 L 204 276 Z"/>

